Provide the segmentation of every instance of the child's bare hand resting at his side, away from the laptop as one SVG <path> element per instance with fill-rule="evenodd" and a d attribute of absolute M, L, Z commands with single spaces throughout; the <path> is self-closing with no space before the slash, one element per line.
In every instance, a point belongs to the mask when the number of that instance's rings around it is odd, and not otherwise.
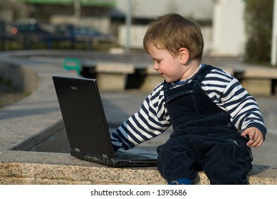
<path fill-rule="evenodd" d="M 241 133 L 241 136 L 249 137 L 249 141 L 247 142 L 247 146 L 249 147 L 258 148 L 258 146 L 263 144 L 263 134 L 256 127 L 249 127 L 245 129 Z"/>

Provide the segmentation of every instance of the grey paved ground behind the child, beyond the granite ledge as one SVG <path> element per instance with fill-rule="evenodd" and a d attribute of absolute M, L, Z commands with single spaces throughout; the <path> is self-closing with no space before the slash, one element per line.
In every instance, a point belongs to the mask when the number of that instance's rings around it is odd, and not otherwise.
<path fill-rule="evenodd" d="M 127 92 L 101 92 L 106 117 L 111 127 L 115 129 L 127 117 L 140 108 L 140 104 L 147 97 L 148 92 L 131 90 Z M 254 163 L 268 166 L 277 166 L 277 96 L 256 97 L 265 119 L 268 134 L 266 141 L 258 149 L 253 149 Z M 138 148 L 154 151 L 158 145 L 164 143 L 169 136 L 169 131 L 157 138 L 141 144 Z"/>

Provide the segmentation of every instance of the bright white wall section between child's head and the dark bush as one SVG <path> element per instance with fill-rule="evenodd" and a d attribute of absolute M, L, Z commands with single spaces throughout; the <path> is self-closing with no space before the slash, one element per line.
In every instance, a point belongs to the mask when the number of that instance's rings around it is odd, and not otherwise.
<path fill-rule="evenodd" d="M 244 54 L 244 0 L 216 0 L 212 27 L 211 55 Z"/>

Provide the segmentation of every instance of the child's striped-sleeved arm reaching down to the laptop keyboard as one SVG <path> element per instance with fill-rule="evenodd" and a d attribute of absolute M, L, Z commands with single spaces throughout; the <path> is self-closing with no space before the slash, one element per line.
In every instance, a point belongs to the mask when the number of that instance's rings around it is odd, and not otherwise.
<path fill-rule="evenodd" d="M 113 148 L 131 149 L 137 144 L 162 134 L 171 124 L 164 106 L 162 85 L 158 85 L 133 114 L 111 135 Z"/>

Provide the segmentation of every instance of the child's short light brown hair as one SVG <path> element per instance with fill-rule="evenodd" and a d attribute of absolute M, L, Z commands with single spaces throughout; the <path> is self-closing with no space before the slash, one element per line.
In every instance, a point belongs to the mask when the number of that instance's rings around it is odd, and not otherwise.
<path fill-rule="evenodd" d="M 150 23 L 143 39 L 143 47 L 168 50 L 177 56 L 180 48 L 189 50 L 189 59 L 202 59 L 204 41 L 199 25 L 179 14 L 166 14 Z"/>

